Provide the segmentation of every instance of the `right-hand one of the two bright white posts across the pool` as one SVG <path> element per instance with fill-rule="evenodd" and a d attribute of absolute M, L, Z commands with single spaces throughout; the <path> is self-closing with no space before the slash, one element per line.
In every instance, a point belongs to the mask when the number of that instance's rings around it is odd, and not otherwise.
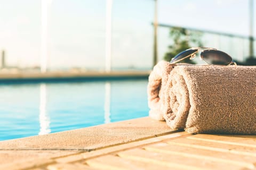
<path fill-rule="evenodd" d="M 111 19 L 113 0 L 106 0 L 106 58 L 105 70 L 111 71 Z"/>

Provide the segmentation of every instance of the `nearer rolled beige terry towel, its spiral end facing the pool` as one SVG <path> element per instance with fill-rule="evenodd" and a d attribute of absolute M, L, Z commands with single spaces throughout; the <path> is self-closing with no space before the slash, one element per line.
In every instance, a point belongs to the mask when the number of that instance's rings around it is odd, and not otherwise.
<path fill-rule="evenodd" d="M 161 90 L 158 114 L 173 129 L 256 134 L 256 66 L 176 65 Z"/>

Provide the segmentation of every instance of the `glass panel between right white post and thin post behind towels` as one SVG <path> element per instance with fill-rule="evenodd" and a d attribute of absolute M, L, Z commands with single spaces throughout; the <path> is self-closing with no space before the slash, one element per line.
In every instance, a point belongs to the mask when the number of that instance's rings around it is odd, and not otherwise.
<path fill-rule="evenodd" d="M 113 2 L 113 69 L 151 69 L 154 1 Z"/>

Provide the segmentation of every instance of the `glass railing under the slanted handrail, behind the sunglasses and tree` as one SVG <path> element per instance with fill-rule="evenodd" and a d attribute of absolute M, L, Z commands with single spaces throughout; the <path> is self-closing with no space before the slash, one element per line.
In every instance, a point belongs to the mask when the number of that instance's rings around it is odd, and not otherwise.
<path fill-rule="evenodd" d="M 162 60 L 163 56 L 167 52 L 170 45 L 173 45 L 172 39 L 169 38 L 170 29 L 176 27 L 174 25 L 158 25 L 158 60 Z M 201 39 L 203 47 L 217 48 L 229 54 L 238 63 L 243 63 L 250 57 L 250 37 L 235 35 L 231 33 L 211 31 L 211 30 L 199 30 L 194 28 L 185 28 L 188 31 L 194 31 L 201 35 L 198 37 Z M 192 45 L 193 46 L 193 45 Z M 253 49 L 256 49 L 255 38 L 253 40 Z M 197 63 L 201 63 L 196 60 Z"/>

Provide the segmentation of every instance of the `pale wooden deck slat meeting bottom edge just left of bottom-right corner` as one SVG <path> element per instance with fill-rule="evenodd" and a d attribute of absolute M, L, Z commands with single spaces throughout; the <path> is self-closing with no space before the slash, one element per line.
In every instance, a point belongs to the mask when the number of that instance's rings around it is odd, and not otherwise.
<path fill-rule="evenodd" d="M 181 169 L 239 169 L 241 167 L 220 163 L 214 160 L 202 158 L 187 158 L 181 155 L 170 155 L 158 152 L 151 152 L 143 149 L 131 149 L 118 152 L 123 158 L 136 160 L 138 162 L 153 163 L 167 166 L 169 168 Z"/>

